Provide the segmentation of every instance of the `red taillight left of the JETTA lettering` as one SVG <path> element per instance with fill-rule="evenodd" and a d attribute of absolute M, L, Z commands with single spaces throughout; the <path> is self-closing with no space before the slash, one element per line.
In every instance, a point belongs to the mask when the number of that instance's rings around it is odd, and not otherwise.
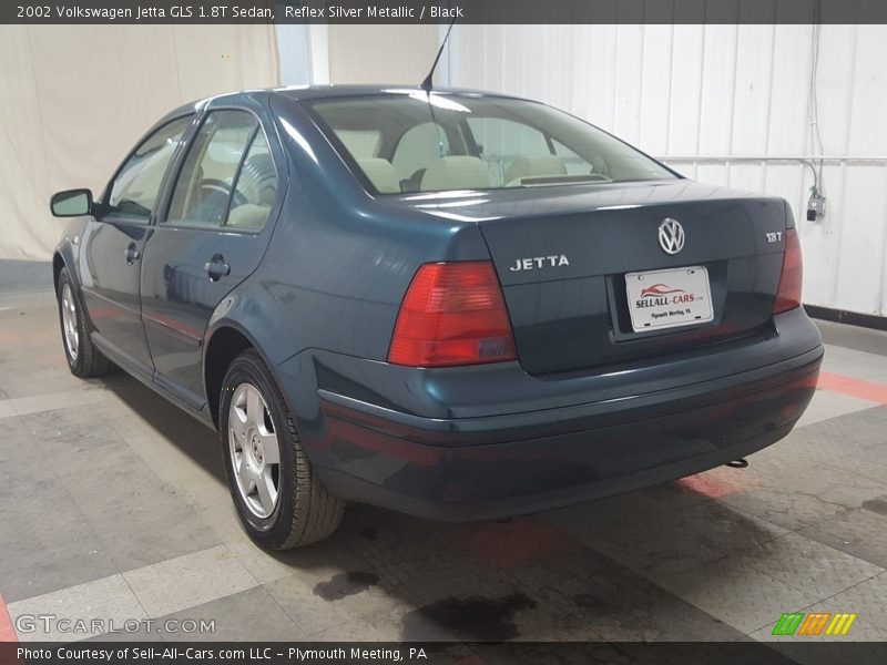
<path fill-rule="evenodd" d="M 400 305 L 389 362 L 447 367 L 513 359 L 511 323 L 490 262 L 419 268 Z"/>

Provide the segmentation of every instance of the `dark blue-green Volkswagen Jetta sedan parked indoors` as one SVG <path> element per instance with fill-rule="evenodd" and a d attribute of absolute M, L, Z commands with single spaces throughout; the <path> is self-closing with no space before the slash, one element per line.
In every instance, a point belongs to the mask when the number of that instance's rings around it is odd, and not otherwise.
<path fill-rule="evenodd" d="M 71 370 L 217 428 L 273 549 L 347 500 L 478 520 L 723 464 L 788 433 L 823 357 L 783 200 L 527 100 L 217 96 L 52 209 Z"/>

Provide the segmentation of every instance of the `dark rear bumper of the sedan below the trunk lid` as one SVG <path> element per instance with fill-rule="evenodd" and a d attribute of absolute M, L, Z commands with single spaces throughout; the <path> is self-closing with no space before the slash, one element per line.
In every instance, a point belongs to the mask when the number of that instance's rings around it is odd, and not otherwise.
<path fill-rule="evenodd" d="M 390 393 L 385 399 L 379 390 L 336 391 L 334 386 L 354 386 L 315 362 L 318 409 L 314 418 L 300 418 L 303 439 L 334 493 L 445 521 L 526 514 L 666 482 L 765 448 L 801 417 L 816 388 L 823 348 L 803 310 L 776 319 L 778 334 L 714 350 L 708 360 L 721 356 L 720 376 L 708 380 L 683 374 L 659 390 L 624 395 L 611 388 L 602 399 L 532 410 L 524 396 L 520 405 L 500 401 L 498 413 L 471 417 L 392 408 Z M 774 347 L 782 356 L 776 361 Z M 750 368 L 738 370 L 736 356 Z M 762 357 L 769 362 L 752 361 Z M 684 367 L 692 360 L 685 358 Z M 398 372 L 405 368 L 386 367 L 392 385 L 402 387 Z M 654 379 L 645 369 L 636 370 L 635 388 Z M 562 381 L 587 380 L 533 379 L 537 399 L 547 405 Z M 422 385 L 443 389 L 439 381 Z M 489 388 L 477 379 L 463 390 L 470 397 L 478 385 Z M 509 387 L 499 392 L 509 395 Z"/>

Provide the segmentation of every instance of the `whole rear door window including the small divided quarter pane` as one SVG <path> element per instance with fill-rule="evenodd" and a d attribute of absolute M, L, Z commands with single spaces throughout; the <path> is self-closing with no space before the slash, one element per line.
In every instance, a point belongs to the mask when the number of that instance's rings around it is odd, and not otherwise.
<path fill-rule="evenodd" d="M 256 117 L 214 111 L 188 149 L 166 223 L 259 231 L 276 197 L 277 174 Z"/>

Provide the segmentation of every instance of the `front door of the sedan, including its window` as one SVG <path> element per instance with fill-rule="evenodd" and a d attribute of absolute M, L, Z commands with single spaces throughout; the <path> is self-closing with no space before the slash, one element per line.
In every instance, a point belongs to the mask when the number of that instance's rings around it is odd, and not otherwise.
<path fill-rule="evenodd" d="M 131 369 L 153 371 L 140 301 L 141 257 L 166 172 L 193 114 L 152 132 L 112 178 L 80 243 L 79 276 L 96 344 Z"/>

